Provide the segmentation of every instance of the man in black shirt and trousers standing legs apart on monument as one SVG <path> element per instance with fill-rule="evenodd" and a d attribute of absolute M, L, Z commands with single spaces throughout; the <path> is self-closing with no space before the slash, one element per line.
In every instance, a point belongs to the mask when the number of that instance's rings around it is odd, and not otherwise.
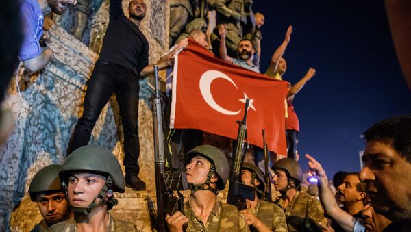
<path fill-rule="evenodd" d="M 146 188 L 145 182 L 138 177 L 138 79 L 142 76 L 142 69 L 147 66 L 149 57 L 149 43 L 138 27 L 145 13 L 143 0 L 130 1 L 129 18 L 123 14 L 121 0 L 110 1 L 110 23 L 99 60 L 88 81 L 83 116 L 75 126 L 68 149 L 70 153 L 88 144 L 101 109 L 114 92 L 124 131 L 125 182 L 137 191 Z"/>

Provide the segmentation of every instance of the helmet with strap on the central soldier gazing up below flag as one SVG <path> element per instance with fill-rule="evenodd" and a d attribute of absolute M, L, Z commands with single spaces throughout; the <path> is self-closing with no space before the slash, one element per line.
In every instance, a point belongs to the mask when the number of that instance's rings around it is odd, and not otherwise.
<path fill-rule="evenodd" d="M 229 176 L 229 166 L 225 155 L 220 149 L 217 149 L 215 146 L 210 145 L 201 145 L 197 146 L 187 153 L 187 161 L 189 162 L 192 157 L 196 155 L 201 155 L 206 157 L 216 168 L 216 175 L 219 177 L 217 181 L 217 189 L 224 190 L 225 184 Z M 188 163 L 187 162 L 187 163 Z"/>

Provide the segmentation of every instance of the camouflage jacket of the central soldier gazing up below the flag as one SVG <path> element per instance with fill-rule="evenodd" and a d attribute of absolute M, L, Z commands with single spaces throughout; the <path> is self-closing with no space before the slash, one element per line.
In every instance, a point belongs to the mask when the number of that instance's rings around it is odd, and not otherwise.
<path fill-rule="evenodd" d="M 217 201 L 206 223 L 195 216 L 189 201 L 184 203 L 184 212 L 188 218 L 186 232 L 249 231 L 244 218 L 234 205 Z"/>

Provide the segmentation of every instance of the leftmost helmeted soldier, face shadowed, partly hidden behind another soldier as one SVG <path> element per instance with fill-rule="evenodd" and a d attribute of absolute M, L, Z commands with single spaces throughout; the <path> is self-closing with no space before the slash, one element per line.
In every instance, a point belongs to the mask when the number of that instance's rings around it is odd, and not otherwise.
<path fill-rule="evenodd" d="M 34 232 L 49 231 L 49 227 L 53 224 L 71 216 L 66 194 L 61 188 L 58 177 L 60 168 L 60 164 L 45 166 L 34 175 L 30 183 L 30 199 L 36 201 L 40 214 L 44 218 L 32 229 Z"/>

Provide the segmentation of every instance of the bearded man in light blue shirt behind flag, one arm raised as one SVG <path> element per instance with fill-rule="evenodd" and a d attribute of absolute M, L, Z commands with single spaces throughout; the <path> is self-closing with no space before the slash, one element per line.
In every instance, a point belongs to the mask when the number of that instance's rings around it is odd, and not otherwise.
<path fill-rule="evenodd" d="M 225 62 L 230 62 L 232 64 L 241 66 L 242 68 L 247 68 L 248 70 L 260 73 L 258 66 L 253 64 L 253 55 L 256 51 L 253 49 L 253 43 L 251 42 L 251 40 L 242 39 L 240 40 L 240 42 L 238 42 L 237 53 L 239 59 L 236 59 L 227 55 L 227 47 L 225 45 L 227 28 L 225 27 L 225 25 L 220 25 L 219 34 L 221 39 L 219 49 L 221 59 L 223 59 Z"/>

